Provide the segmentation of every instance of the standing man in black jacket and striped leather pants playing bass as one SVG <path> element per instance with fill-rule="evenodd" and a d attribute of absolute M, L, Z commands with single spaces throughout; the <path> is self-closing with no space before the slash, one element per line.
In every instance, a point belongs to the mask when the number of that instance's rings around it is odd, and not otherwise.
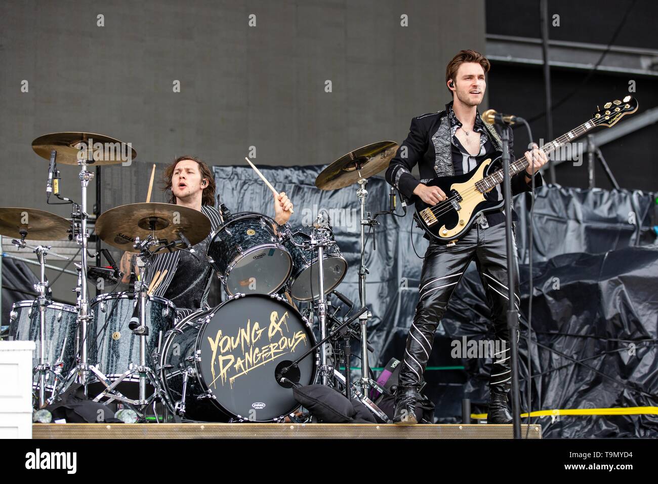
<path fill-rule="evenodd" d="M 495 159 L 501 155 L 499 133 L 491 124 L 482 121 L 477 110 L 486 90 L 486 74 L 489 69 L 489 61 L 480 53 L 460 51 L 445 69 L 445 84 L 453 101 L 445 106 L 444 111 L 411 120 L 409 136 L 401 144 L 386 171 L 388 183 L 408 200 L 419 198 L 428 205 L 443 202 L 447 200 L 445 192 L 438 186 L 427 186 L 423 182 L 427 183 L 439 176 L 463 175 L 476 169 L 485 159 Z M 511 129 L 506 129 L 509 132 L 509 151 L 513 161 L 513 138 Z M 528 167 L 511 178 L 512 195 L 530 191 L 532 174 L 547 162 L 546 154 L 536 144 L 532 145 L 531 151 L 525 152 L 525 157 Z M 415 165 L 418 165 L 421 181 L 411 175 Z M 542 176 L 534 176 L 536 186 L 542 186 Z M 503 200 L 502 187 L 495 186 L 488 196 L 498 196 L 498 200 Z M 424 398 L 420 389 L 424 385 L 423 373 L 432 352 L 434 332 L 457 283 L 473 259 L 491 309 L 495 338 L 501 340 L 500 348 L 506 348 L 501 352 L 503 354 L 493 358 L 487 421 L 512 421 L 507 400 L 511 389 L 511 358 L 507 344 L 508 264 L 503 223 L 506 211 L 503 205 L 496 211 L 480 213 L 468 232 L 454 244 L 440 244 L 430 238 L 418 286 L 419 300 L 407 336 L 399 386 L 395 393 L 395 423 L 417 423 L 415 408 L 418 400 Z M 518 220 L 513 210 L 512 217 L 513 221 Z M 516 244 L 513 253 L 511 270 L 515 271 L 515 281 L 519 281 Z M 518 285 L 515 289 L 515 304 L 518 308 Z"/>

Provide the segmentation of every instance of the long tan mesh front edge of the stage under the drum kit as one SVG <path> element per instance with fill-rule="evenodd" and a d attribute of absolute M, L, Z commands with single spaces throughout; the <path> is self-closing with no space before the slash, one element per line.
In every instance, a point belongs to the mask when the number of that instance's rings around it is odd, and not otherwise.
<path fill-rule="evenodd" d="M 526 427 L 521 425 L 522 437 Z M 512 425 L 363 423 L 35 423 L 33 439 L 512 439 Z M 541 439 L 530 425 L 528 439 Z"/>

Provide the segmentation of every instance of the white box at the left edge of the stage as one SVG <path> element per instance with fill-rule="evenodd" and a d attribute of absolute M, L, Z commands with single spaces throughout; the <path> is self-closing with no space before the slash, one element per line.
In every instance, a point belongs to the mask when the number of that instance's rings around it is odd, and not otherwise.
<path fill-rule="evenodd" d="M 0 439 L 32 438 L 34 341 L 0 341 Z"/>

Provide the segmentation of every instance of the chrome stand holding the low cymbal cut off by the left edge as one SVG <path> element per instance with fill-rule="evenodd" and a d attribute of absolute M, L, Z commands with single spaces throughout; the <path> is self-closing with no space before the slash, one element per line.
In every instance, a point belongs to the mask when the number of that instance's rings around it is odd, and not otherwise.
<path fill-rule="evenodd" d="M 52 373 L 55 376 L 55 385 L 57 385 L 57 379 L 59 378 L 62 366 L 61 362 L 54 362 L 51 366 L 51 362 L 45 361 L 45 308 L 47 308 L 48 304 L 51 302 L 51 291 L 48 286 L 48 280 L 45 277 L 45 256 L 49 254 L 55 255 L 55 257 L 59 257 L 66 261 L 68 261 L 68 257 L 55 254 L 55 252 L 50 252 L 52 246 L 29 246 L 25 243 L 27 235 L 27 230 L 21 229 L 20 240 L 14 238 L 11 243 L 14 244 L 18 250 L 24 248 L 32 249 L 39 259 L 39 267 L 41 269 L 39 282 L 34 284 L 34 289 L 37 292 L 37 301 L 39 303 L 39 364 L 34 367 L 32 371 L 39 375 L 39 408 L 42 408 L 45 404 L 46 375 Z"/>

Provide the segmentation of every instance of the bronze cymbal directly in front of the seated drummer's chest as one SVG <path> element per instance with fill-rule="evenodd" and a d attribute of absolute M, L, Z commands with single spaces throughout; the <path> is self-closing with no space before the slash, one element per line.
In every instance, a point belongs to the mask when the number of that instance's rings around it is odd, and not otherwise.
<path fill-rule="evenodd" d="M 135 238 L 154 236 L 169 242 L 180 239 L 183 232 L 192 245 L 205 239 L 211 231 L 210 219 L 198 210 L 172 203 L 130 203 L 102 213 L 96 221 L 96 234 L 103 242 L 126 252 L 139 252 Z M 176 248 L 172 248 L 176 250 Z"/>

